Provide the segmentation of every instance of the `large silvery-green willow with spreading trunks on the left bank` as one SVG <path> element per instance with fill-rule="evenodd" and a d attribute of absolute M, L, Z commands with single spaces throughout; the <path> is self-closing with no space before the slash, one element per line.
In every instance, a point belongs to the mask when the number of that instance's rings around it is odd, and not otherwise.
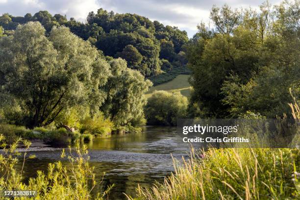
<path fill-rule="evenodd" d="M 1 85 L 24 102 L 24 124 L 49 125 L 59 113 L 75 105 L 98 110 L 109 65 L 98 50 L 66 27 L 53 28 L 50 36 L 39 22 L 19 25 L 13 37 L 0 40 Z"/>

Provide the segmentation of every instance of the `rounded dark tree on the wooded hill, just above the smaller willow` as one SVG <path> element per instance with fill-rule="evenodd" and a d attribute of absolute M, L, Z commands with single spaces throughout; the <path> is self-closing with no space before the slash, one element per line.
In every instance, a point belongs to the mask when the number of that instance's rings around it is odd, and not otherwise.
<path fill-rule="evenodd" d="M 115 57 L 121 57 L 125 59 L 128 67 L 133 69 L 141 64 L 143 59 L 142 54 L 132 45 L 126 45 L 122 52 L 116 53 Z"/>

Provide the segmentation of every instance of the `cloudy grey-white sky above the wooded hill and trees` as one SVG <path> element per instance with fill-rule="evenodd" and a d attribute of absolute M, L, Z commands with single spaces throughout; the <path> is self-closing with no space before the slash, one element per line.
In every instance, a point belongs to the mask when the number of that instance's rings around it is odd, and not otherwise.
<path fill-rule="evenodd" d="M 104 8 L 115 13 L 136 13 L 164 25 L 174 25 L 186 30 L 192 37 L 197 32 L 197 24 L 209 22 L 209 10 L 213 4 L 227 3 L 232 8 L 257 8 L 263 0 L 0 0 L 0 14 L 13 16 L 32 15 L 40 10 L 51 14 L 67 15 L 68 19 L 85 21 L 90 11 Z M 274 5 L 280 0 L 269 0 Z"/>

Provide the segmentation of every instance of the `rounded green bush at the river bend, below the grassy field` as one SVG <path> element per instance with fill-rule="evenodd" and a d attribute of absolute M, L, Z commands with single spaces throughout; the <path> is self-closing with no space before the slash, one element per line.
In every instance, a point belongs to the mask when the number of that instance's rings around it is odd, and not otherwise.
<path fill-rule="evenodd" d="M 186 117 L 188 100 L 180 92 L 155 91 L 145 106 L 148 124 L 176 125 L 178 118 Z"/>

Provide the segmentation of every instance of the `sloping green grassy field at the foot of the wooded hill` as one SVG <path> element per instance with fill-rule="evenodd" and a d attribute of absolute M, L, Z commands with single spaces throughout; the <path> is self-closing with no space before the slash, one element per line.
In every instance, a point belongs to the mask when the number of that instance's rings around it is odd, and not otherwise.
<path fill-rule="evenodd" d="M 173 80 L 151 87 L 146 93 L 146 97 L 149 98 L 155 90 L 165 90 L 169 92 L 178 92 L 186 97 L 191 93 L 191 86 L 188 82 L 190 75 L 177 75 Z"/>

